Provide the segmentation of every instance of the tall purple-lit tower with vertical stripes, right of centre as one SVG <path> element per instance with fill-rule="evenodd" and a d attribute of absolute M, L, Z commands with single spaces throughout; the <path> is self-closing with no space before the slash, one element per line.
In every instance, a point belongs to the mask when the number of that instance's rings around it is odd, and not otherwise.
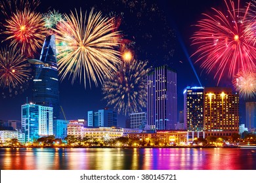
<path fill-rule="evenodd" d="M 177 124 L 177 73 L 167 66 L 148 74 L 148 125 L 154 129 L 175 129 Z"/>

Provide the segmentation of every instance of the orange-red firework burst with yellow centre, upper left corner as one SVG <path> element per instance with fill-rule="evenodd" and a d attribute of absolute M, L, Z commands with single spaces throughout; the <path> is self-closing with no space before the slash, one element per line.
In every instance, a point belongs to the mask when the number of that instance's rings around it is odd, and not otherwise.
<path fill-rule="evenodd" d="M 46 30 L 41 14 L 30 9 L 14 12 L 6 20 L 5 41 L 11 41 L 11 46 L 20 48 L 22 54 L 33 57 L 45 39 Z"/>

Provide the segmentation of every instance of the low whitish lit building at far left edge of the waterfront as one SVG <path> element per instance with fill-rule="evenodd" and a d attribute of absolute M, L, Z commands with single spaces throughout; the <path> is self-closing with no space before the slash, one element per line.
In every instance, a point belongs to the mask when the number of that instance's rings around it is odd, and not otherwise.
<path fill-rule="evenodd" d="M 18 142 L 25 143 L 25 133 L 17 130 L 3 130 L 0 131 L 0 143 L 11 141 L 11 139 L 18 139 Z"/>

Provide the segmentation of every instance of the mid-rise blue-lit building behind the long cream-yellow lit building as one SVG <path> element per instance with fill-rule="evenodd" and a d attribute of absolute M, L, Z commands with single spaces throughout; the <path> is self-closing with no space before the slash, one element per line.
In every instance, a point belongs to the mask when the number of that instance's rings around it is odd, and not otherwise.
<path fill-rule="evenodd" d="M 97 112 L 87 112 L 88 126 L 112 127 L 117 126 L 117 113 L 109 108 L 100 109 Z"/>

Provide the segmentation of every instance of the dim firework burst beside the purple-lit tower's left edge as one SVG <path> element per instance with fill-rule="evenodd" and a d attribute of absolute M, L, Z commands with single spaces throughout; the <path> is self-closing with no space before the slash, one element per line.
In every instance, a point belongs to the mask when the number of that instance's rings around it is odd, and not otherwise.
<path fill-rule="evenodd" d="M 146 62 L 124 61 L 116 73 L 104 81 L 102 90 L 108 105 L 113 106 L 118 114 L 142 111 L 146 107 Z"/>

